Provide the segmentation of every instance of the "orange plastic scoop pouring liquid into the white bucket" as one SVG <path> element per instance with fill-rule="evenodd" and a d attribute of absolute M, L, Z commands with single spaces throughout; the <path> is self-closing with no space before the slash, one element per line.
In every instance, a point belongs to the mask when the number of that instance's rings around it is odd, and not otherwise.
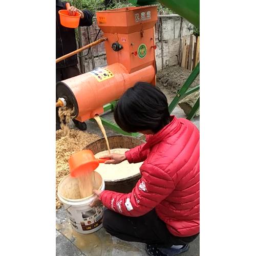
<path fill-rule="evenodd" d="M 91 150 L 79 151 L 69 158 L 70 176 L 78 177 L 84 172 L 93 172 L 99 163 L 104 163 L 106 160 L 110 159 L 95 158 Z"/>

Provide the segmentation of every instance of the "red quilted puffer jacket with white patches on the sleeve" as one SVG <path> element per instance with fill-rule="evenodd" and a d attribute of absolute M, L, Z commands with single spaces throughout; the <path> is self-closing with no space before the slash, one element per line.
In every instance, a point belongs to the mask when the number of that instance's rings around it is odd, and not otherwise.
<path fill-rule="evenodd" d="M 130 163 L 142 162 L 141 179 L 129 194 L 105 190 L 102 203 L 126 216 L 156 208 L 170 233 L 199 233 L 199 131 L 190 121 L 173 120 L 146 143 L 125 153 Z"/>

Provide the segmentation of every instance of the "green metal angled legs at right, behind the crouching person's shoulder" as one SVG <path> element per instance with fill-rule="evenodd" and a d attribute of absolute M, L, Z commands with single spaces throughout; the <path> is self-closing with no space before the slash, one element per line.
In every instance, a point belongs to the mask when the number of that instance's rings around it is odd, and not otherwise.
<path fill-rule="evenodd" d="M 189 77 L 184 82 L 183 86 L 181 87 L 181 89 L 176 94 L 173 101 L 170 102 L 170 104 L 168 106 L 169 113 L 173 112 L 173 110 L 175 109 L 175 107 L 177 106 L 177 104 L 180 102 L 181 99 L 185 98 L 187 95 L 189 95 L 191 93 L 194 93 L 194 92 L 196 92 L 200 89 L 199 85 L 196 86 L 196 87 L 188 89 L 191 86 L 191 84 L 195 81 L 197 76 L 199 75 L 199 72 L 200 72 L 199 67 L 200 67 L 200 63 L 198 63 L 198 65 L 195 67 L 195 69 L 191 72 L 191 74 L 189 75 Z M 199 98 L 198 98 L 197 102 L 195 103 L 195 105 L 193 106 L 193 108 L 191 109 L 190 113 L 187 116 L 188 120 L 191 120 L 195 116 L 195 114 L 197 113 L 197 111 L 199 109 L 199 102 L 200 101 L 199 101 Z"/>

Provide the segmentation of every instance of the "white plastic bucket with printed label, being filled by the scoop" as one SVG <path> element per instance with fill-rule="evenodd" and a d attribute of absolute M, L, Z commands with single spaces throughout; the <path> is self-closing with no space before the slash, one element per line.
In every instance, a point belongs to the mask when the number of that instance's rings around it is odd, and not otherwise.
<path fill-rule="evenodd" d="M 103 191 L 105 189 L 104 180 L 97 172 L 95 172 L 95 178 L 97 180 L 96 183 L 98 183 L 98 189 Z M 65 195 L 65 191 L 69 189 L 75 191 L 74 198 L 80 197 L 78 179 L 67 175 L 58 185 L 58 198 L 64 204 L 73 229 L 82 234 L 89 234 L 99 230 L 102 227 L 104 206 L 89 206 L 95 199 L 95 195 L 82 199 L 69 199 Z"/>

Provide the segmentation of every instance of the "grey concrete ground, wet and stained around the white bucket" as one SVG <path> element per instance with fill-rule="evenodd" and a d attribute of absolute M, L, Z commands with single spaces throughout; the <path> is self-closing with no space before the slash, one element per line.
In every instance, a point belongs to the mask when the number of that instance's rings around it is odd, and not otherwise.
<path fill-rule="evenodd" d="M 164 90 L 163 92 L 166 94 L 168 102 L 170 102 L 172 96 Z M 185 118 L 185 114 L 179 106 L 172 114 Z M 113 121 L 112 113 L 106 114 L 104 117 Z M 199 117 L 193 119 L 198 129 L 199 121 Z M 87 131 L 102 137 L 95 122 L 87 121 L 87 125 Z M 117 133 L 106 127 L 106 134 L 111 136 Z M 63 206 L 56 212 L 56 256 L 144 256 L 147 255 L 144 247 L 143 243 L 125 242 L 112 237 L 109 233 L 106 233 L 104 228 L 92 234 L 79 234 L 73 231 Z M 190 249 L 181 255 L 199 256 L 199 237 L 190 243 Z"/>

